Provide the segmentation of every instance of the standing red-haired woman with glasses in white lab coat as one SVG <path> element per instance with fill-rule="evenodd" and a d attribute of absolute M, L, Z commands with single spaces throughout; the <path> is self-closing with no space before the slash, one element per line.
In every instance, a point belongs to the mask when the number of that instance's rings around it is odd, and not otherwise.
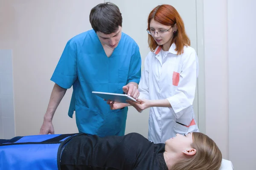
<path fill-rule="evenodd" d="M 148 139 L 163 143 L 177 133 L 198 132 L 193 111 L 198 58 L 183 20 L 173 6 L 155 7 L 148 16 L 148 53 L 139 83 L 137 111 L 150 108 Z M 122 104 L 110 103 L 111 109 Z"/>

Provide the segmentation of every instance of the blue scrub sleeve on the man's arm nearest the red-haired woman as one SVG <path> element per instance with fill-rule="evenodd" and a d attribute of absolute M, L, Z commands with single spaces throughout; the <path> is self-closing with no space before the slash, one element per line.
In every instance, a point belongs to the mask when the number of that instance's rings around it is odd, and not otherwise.
<path fill-rule="evenodd" d="M 129 82 L 136 82 L 139 84 L 141 76 L 141 56 L 140 56 L 140 49 L 136 44 L 134 54 L 131 57 L 129 73 L 127 83 Z"/>

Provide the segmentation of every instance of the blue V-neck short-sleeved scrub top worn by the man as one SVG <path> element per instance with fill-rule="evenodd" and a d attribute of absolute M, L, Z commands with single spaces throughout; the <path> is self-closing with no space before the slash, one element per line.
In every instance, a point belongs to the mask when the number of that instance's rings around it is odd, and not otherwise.
<path fill-rule="evenodd" d="M 122 94 L 129 82 L 139 84 L 141 57 L 137 43 L 122 33 L 118 46 L 107 57 L 94 30 L 71 38 L 64 48 L 51 80 L 73 94 L 68 115 L 76 111 L 79 132 L 99 136 L 125 134 L 128 108 L 111 110 L 92 91 Z"/>

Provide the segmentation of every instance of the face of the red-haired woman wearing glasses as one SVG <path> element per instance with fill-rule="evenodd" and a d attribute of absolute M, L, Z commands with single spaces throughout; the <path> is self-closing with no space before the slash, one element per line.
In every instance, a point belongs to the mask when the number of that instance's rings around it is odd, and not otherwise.
<path fill-rule="evenodd" d="M 174 31 L 172 26 L 165 26 L 152 19 L 149 23 L 149 27 L 151 36 L 154 38 L 158 45 L 171 44 Z"/>

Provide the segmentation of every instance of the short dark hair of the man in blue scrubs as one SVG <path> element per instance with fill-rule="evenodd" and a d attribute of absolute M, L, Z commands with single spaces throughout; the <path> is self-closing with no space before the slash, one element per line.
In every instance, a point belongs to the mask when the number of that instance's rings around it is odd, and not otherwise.
<path fill-rule="evenodd" d="M 122 26 L 122 14 L 113 3 L 100 3 L 90 11 L 90 23 L 95 32 L 111 34 Z"/>

